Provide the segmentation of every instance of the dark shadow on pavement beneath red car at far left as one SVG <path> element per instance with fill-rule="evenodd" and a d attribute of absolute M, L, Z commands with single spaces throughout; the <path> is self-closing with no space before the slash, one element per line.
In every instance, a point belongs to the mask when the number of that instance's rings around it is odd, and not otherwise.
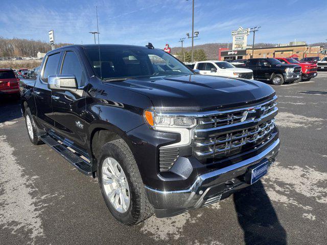
<path fill-rule="evenodd" d="M 0 123 L 21 117 L 20 99 L 0 94 Z"/>

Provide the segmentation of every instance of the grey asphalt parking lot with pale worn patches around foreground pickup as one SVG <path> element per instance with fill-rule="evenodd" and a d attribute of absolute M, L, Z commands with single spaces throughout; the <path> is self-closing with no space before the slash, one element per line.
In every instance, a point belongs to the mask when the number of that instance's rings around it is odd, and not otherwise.
<path fill-rule="evenodd" d="M 262 181 L 198 210 L 127 227 L 98 182 L 33 145 L 15 100 L 0 101 L 1 244 L 326 244 L 327 72 L 273 86 L 281 131 Z"/>

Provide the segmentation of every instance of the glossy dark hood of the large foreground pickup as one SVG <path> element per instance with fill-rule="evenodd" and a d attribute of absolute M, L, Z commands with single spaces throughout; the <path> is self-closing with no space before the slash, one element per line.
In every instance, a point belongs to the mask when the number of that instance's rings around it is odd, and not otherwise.
<path fill-rule="evenodd" d="M 110 82 L 150 98 L 157 110 L 206 111 L 249 105 L 272 97 L 262 82 L 202 75 L 152 77 Z"/>

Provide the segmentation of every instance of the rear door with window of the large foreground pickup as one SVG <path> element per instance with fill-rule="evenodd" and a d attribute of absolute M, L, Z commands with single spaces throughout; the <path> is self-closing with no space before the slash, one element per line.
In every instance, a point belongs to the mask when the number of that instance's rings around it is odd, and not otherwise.
<path fill-rule="evenodd" d="M 41 127 L 48 131 L 54 128 L 54 119 L 52 113 L 52 91 L 48 88 L 48 76 L 58 74 L 58 65 L 60 60 L 60 52 L 50 54 L 45 57 L 45 64 L 41 75 L 37 77 L 34 86 L 34 99 L 37 112 L 37 121 L 40 122 Z"/>

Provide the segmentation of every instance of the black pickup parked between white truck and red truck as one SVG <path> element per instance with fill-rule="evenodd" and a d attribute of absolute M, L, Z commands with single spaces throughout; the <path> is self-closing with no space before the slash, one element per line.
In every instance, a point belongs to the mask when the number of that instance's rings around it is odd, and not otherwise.
<path fill-rule="evenodd" d="M 300 80 L 301 66 L 283 64 L 275 58 L 248 59 L 243 68 L 253 70 L 253 79 L 269 81 L 273 85 L 293 83 Z"/>

